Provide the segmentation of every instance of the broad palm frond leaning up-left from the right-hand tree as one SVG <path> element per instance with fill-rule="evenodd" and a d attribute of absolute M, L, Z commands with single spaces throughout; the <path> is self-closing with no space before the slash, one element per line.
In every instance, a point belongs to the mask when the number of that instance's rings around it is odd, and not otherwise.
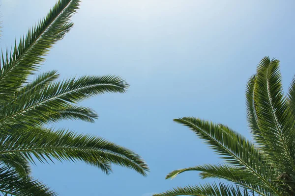
<path fill-rule="evenodd" d="M 242 135 L 222 124 L 214 124 L 193 117 L 184 117 L 174 120 L 188 126 L 201 139 L 229 164 L 244 167 L 259 178 L 266 187 L 279 195 L 279 192 L 265 173 L 269 164 L 259 150 Z"/>

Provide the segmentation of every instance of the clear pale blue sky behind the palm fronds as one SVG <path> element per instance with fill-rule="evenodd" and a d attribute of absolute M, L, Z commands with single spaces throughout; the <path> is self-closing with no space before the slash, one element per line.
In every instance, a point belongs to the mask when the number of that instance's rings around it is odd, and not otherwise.
<path fill-rule="evenodd" d="M 2 48 L 19 40 L 56 0 L 0 0 Z M 96 123 L 61 122 L 77 132 L 131 148 L 148 177 L 114 167 L 107 176 L 83 163 L 33 167 L 61 196 L 151 196 L 204 183 L 197 172 L 165 180 L 172 170 L 220 160 L 174 118 L 224 123 L 250 137 L 245 85 L 265 55 L 281 61 L 285 89 L 295 73 L 294 0 L 83 0 L 74 28 L 51 50 L 42 71 L 61 78 L 117 74 L 126 94 L 91 98 Z"/>

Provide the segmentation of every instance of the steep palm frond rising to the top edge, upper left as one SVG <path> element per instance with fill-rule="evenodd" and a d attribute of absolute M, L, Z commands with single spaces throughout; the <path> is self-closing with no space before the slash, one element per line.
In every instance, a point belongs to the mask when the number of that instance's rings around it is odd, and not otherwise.
<path fill-rule="evenodd" d="M 15 43 L 11 52 L 3 55 L 0 72 L 0 98 L 13 93 L 36 71 L 43 56 L 72 27 L 71 16 L 77 11 L 80 0 L 59 0 L 47 16 L 33 26 L 27 36 Z M 11 55 L 9 55 L 9 53 Z"/>

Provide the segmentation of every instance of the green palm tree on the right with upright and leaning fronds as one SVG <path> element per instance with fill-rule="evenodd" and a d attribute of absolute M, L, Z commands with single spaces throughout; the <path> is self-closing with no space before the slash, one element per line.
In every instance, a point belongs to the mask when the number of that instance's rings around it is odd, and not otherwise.
<path fill-rule="evenodd" d="M 295 79 L 285 96 L 279 61 L 263 58 L 248 81 L 246 105 L 253 142 L 220 123 L 175 119 L 205 140 L 224 162 L 176 170 L 166 179 L 198 171 L 202 179 L 222 181 L 154 196 L 295 196 Z"/>

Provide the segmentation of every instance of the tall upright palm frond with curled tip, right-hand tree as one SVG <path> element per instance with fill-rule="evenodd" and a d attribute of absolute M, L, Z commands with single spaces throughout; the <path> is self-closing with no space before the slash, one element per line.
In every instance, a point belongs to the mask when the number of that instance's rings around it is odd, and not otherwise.
<path fill-rule="evenodd" d="M 290 141 L 291 126 L 287 101 L 283 94 L 279 61 L 265 57 L 257 67 L 254 90 L 255 110 L 260 125 L 262 149 L 268 153 L 282 171 L 294 172 L 295 154 L 293 141 Z M 292 122 L 293 123 L 293 122 Z M 290 132 L 291 131 L 291 132 Z M 294 173 L 295 174 L 295 173 Z"/>

